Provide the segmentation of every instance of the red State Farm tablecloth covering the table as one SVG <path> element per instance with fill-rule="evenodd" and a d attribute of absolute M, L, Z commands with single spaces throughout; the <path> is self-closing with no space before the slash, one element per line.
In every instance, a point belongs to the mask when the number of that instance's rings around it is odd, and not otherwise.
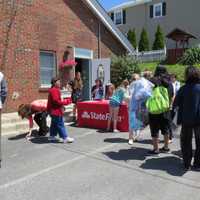
<path fill-rule="evenodd" d="M 78 126 L 90 127 L 97 129 L 106 129 L 109 117 L 109 101 L 84 101 L 78 102 Z M 127 132 L 128 125 L 128 108 L 126 104 L 120 106 L 117 129 Z"/>

